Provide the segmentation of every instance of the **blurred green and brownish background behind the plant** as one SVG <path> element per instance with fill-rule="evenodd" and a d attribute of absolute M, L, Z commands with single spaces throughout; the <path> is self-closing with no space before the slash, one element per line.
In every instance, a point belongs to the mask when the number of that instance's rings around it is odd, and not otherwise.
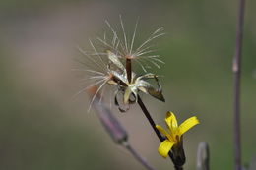
<path fill-rule="evenodd" d="M 242 155 L 256 154 L 256 20 L 255 1 L 246 4 L 242 60 Z M 157 123 L 168 110 L 179 122 L 198 116 L 199 126 L 185 135 L 185 169 L 195 169 L 197 144 L 209 142 L 212 169 L 231 169 L 232 73 L 237 2 L 1 0 L 0 1 L 0 169 L 97 170 L 143 169 L 87 112 L 74 58 L 77 45 L 90 49 L 89 38 L 102 34 L 107 19 L 123 16 L 132 32 L 140 17 L 138 40 L 164 27 L 158 53 L 166 63 L 152 70 L 166 103 L 143 96 Z M 149 33 L 147 33 L 149 32 Z M 157 152 L 160 144 L 149 123 L 133 105 L 115 115 L 130 142 L 157 169 L 173 169 Z"/>

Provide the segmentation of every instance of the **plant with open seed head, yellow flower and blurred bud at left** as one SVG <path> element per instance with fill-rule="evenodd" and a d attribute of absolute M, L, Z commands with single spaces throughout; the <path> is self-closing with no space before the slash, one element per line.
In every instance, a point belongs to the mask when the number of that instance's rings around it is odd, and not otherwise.
<path fill-rule="evenodd" d="M 81 47 L 78 47 L 79 51 L 86 58 L 86 61 L 80 61 L 80 63 L 86 66 L 86 69 L 83 68 L 77 70 L 87 72 L 89 75 L 88 78 L 82 80 L 89 83 L 89 85 L 81 89 L 78 94 L 85 90 L 89 90 L 91 98 L 89 110 L 93 105 L 99 115 L 100 122 L 108 134 L 115 142 L 118 141 L 118 143 L 122 144 L 126 143 L 127 139 L 125 129 L 121 128 L 118 121 L 111 116 L 110 111 L 106 106 L 100 106 L 104 88 L 105 86 L 109 86 L 113 89 L 112 99 L 114 99 L 114 103 L 120 112 L 127 112 L 131 104 L 137 103 L 160 139 L 160 155 L 162 157 L 167 157 L 167 155 L 169 155 L 174 164 L 174 168 L 176 170 L 183 169 L 186 160 L 183 149 L 183 134 L 193 126 L 197 125 L 199 123 L 198 119 L 196 117 L 189 118 L 178 126 L 174 114 L 167 112 L 165 118 L 165 122 L 169 129 L 167 132 L 159 125 L 156 125 L 149 110 L 140 97 L 140 95 L 144 93 L 153 96 L 161 102 L 165 102 L 162 94 L 162 87 L 160 85 L 160 76 L 149 72 L 151 67 L 155 66 L 160 69 L 160 64 L 164 64 L 160 59 L 160 56 L 155 55 L 156 50 L 154 49 L 154 45 L 152 45 L 154 39 L 164 34 L 163 28 L 154 30 L 145 41 L 136 46 L 135 39 L 138 20 L 135 24 L 131 38 L 127 37 L 121 16 L 119 28 L 114 28 L 108 21 L 105 21 L 105 23 L 110 34 L 105 32 L 103 37 L 96 38 L 96 42 L 89 40 L 93 52 L 86 52 Z M 121 33 L 118 30 L 121 30 Z M 143 74 L 138 74 L 138 72 L 133 69 L 134 63 L 140 66 Z M 149 82 L 150 80 L 151 82 Z M 155 85 L 153 85 L 153 83 Z M 92 92 L 92 89 L 94 89 L 94 92 Z M 122 137 L 121 140 L 118 140 L 119 137 Z M 142 159 L 138 156 L 139 154 L 137 154 L 135 150 L 130 151 L 132 155 L 145 166 L 145 168 L 152 168 L 151 166 L 148 166 L 149 164 L 145 164 L 145 161 L 140 161 Z"/>

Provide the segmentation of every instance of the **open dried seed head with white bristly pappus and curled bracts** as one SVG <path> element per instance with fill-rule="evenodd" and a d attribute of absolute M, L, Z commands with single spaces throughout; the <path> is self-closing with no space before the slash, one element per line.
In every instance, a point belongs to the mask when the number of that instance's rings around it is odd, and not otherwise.
<path fill-rule="evenodd" d="M 78 47 L 79 51 L 84 54 L 87 59 L 87 61 L 81 62 L 87 67 L 87 69 L 80 69 L 80 71 L 87 72 L 87 74 L 90 75 L 89 78 L 84 79 L 84 81 L 90 83 L 90 85 L 81 89 L 78 94 L 92 86 L 98 85 L 95 95 L 92 97 L 89 110 L 99 91 L 101 91 L 100 93 L 102 96 L 104 88 L 107 85 L 114 89 L 115 92 L 113 93 L 115 104 L 119 107 L 120 111 L 128 110 L 130 104 L 137 102 L 139 92 L 150 94 L 155 98 L 164 101 L 161 85 L 158 79 L 159 76 L 148 73 L 146 70 L 148 65 L 145 64 L 144 61 L 140 61 L 140 59 L 144 59 L 160 68 L 158 63 L 163 62 L 159 59 L 158 55 L 150 55 L 154 50 L 149 44 L 152 40 L 163 35 L 163 28 L 158 28 L 141 45 L 134 48 L 138 20 L 135 24 L 131 41 L 126 35 L 121 16 L 120 26 L 122 30 L 122 37 L 118 35 L 117 31 L 109 24 L 108 21 L 105 21 L 105 23 L 111 32 L 110 41 L 106 37 L 106 34 L 104 34 L 103 38 L 96 38 L 96 40 L 104 46 L 104 49 L 99 50 L 91 40 L 89 40 L 89 42 L 93 48 L 93 52 L 86 52 Z M 137 62 L 142 67 L 145 71 L 144 75 L 137 76 L 133 71 L 133 61 Z M 147 82 L 147 80 L 155 80 L 158 87 L 154 87 Z M 120 94 L 122 96 L 121 100 L 118 99 L 118 95 Z M 122 109 L 121 103 L 126 106 L 128 105 L 128 109 Z"/>

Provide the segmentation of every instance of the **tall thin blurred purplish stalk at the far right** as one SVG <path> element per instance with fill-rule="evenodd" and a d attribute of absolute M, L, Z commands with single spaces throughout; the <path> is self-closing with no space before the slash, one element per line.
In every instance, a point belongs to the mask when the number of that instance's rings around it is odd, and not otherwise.
<path fill-rule="evenodd" d="M 234 131 L 234 169 L 241 170 L 241 132 L 240 132 L 240 78 L 242 58 L 242 37 L 244 23 L 245 0 L 239 0 L 236 26 L 236 46 L 233 57 L 234 103 L 233 103 L 233 131 Z"/>

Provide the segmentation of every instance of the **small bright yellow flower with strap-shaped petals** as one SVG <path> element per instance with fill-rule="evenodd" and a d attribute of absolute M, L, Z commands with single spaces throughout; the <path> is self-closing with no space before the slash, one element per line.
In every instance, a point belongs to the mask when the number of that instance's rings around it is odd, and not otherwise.
<path fill-rule="evenodd" d="M 165 131 L 159 125 L 156 125 L 156 128 L 160 131 L 160 133 L 166 137 L 166 140 L 161 142 L 159 146 L 159 153 L 164 158 L 167 157 L 172 146 L 181 141 L 181 137 L 185 132 L 199 124 L 197 117 L 193 116 L 178 126 L 177 119 L 172 112 L 166 113 L 165 122 L 169 132 Z"/>

